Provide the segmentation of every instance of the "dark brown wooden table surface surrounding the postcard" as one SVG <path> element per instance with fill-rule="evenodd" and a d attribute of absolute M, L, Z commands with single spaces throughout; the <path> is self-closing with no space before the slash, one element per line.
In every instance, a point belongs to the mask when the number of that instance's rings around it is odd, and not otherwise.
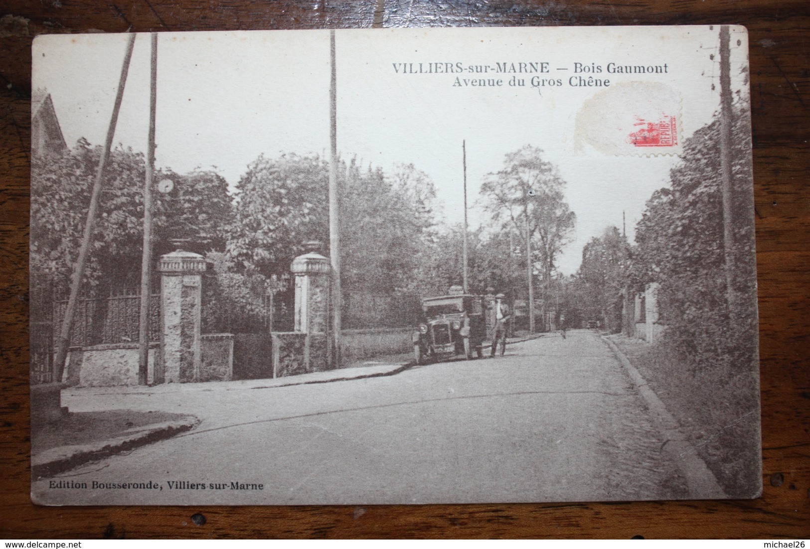
<path fill-rule="evenodd" d="M 810 3 L 5 0 L 0 6 L 0 538 L 810 536 Z M 41 33 L 742 24 L 750 33 L 761 498 L 626 504 L 47 508 L 28 497 L 31 43 Z M 203 513 L 198 526 L 190 519 Z"/>

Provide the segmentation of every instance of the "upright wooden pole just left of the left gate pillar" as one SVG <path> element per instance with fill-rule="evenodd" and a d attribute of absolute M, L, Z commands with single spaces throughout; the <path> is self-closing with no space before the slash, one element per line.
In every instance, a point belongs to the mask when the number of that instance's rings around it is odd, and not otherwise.
<path fill-rule="evenodd" d="M 139 325 L 138 385 L 147 385 L 149 372 L 149 299 L 151 296 L 151 188 L 155 173 L 155 111 L 157 103 L 157 32 L 151 33 L 149 136 L 147 177 L 143 184 L 143 255 L 141 256 L 141 314 Z"/>

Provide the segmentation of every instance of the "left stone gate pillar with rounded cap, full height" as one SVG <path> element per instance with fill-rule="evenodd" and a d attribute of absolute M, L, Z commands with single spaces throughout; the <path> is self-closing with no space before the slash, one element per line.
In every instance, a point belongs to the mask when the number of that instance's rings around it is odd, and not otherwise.
<path fill-rule="evenodd" d="M 155 383 L 182 383 L 199 377 L 200 324 L 203 271 L 198 253 L 176 252 L 160 256 L 160 349 Z"/>

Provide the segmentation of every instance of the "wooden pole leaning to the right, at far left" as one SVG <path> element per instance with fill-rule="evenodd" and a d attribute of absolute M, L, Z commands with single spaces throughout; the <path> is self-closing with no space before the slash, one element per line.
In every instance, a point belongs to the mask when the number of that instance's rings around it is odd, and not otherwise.
<path fill-rule="evenodd" d="M 101 150 L 99 167 L 96 171 L 96 180 L 93 182 L 93 189 L 90 195 L 90 207 L 87 209 L 87 220 L 84 223 L 82 245 L 79 248 L 79 257 L 76 259 L 73 276 L 70 280 L 70 297 L 67 300 L 67 309 L 65 311 L 65 318 L 62 320 L 62 330 L 59 332 L 56 358 L 54 359 L 56 368 L 58 368 L 58 379 L 56 381 L 62 380 L 62 372 L 64 372 L 65 368 L 67 349 L 70 346 L 70 329 L 73 327 L 73 314 L 76 310 L 76 302 L 79 300 L 79 289 L 82 286 L 84 276 L 84 264 L 87 262 L 87 253 L 90 251 L 90 239 L 92 238 L 93 227 L 96 224 L 96 210 L 98 210 L 101 181 L 104 178 L 104 169 L 107 168 L 110 147 L 113 146 L 115 126 L 118 121 L 118 111 L 121 109 L 121 100 L 124 96 L 124 86 L 126 85 L 126 75 L 130 71 L 130 59 L 132 59 L 132 49 L 134 45 L 135 35 L 132 34 L 130 35 L 130 41 L 126 45 L 124 62 L 121 67 L 121 78 L 118 79 L 118 91 L 115 96 L 115 104 L 113 105 L 113 115 L 109 120 L 107 138 L 104 140 L 104 148 Z"/>

